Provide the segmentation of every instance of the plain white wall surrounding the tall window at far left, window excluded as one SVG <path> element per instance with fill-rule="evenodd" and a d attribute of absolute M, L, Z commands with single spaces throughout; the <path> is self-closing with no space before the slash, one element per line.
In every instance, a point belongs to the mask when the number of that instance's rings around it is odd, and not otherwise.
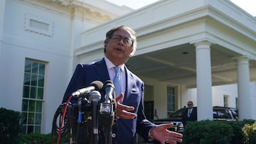
<path fill-rule="evenodd" d="M 21 111 L 26 58 L 46 62 L 42 133 L 51 132 L 53 115 L 77 64 L 73 50 L 80 47 L 82 31 L 121 14 L 102 14 L 106 11 L 99 10 L 102 15 L 93 17 L 87 9 L 86 13 L 82 8 L 70 9 L 52 2 L 0 2 L 0 107 Z M 97 6 L 102 3 L 94 2 Z M 111 11 L 130 11 L 110 3 L 101 5 L 111 5 Z"/>

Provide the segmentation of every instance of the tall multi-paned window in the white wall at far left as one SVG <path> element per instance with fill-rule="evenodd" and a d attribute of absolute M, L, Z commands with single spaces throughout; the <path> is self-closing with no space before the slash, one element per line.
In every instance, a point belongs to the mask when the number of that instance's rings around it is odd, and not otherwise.
<path fill-rule="evenodd" d="M 41 133 L 46 64 L 26 60 L 23 80 L 23 133 Z"/>

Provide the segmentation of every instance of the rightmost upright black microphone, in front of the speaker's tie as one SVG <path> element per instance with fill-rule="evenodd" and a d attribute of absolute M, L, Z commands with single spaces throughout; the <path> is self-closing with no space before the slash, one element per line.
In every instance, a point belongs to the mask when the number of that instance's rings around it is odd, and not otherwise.
<path fill-rule="evenodd" d="M 105 103 L 111 103 L 114 99 L 114 84 L 111 80 L 107 80 L 105 85 Z"/>

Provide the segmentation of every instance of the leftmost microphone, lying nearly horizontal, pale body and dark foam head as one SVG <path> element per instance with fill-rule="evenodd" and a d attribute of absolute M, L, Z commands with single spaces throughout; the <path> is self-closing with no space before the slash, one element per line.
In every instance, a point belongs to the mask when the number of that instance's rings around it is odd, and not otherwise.
<path fill-rule="evenodd" d="M 78 89 L 76 92 L 72 93 L 72 96 L 74 97 L 80 97 L 80 96 L 85 96 L 85 94 L 89 94 L 90 92 L 96 90 L 99 91 L 102 89 L 103 83 L 100 81 L 93 81 L 89 87 L 85 87 L 82 89 Z"/>

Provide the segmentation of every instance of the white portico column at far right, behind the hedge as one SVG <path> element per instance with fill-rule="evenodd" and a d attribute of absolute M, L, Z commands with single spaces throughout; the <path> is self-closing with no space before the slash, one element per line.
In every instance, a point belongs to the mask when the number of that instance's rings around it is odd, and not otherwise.
<path fill-rule="evenodd" d="M 238 57 L 238 114 L 239 120 L 252 118 L 252 104 L 250 97 L 249 58 Z"/>

